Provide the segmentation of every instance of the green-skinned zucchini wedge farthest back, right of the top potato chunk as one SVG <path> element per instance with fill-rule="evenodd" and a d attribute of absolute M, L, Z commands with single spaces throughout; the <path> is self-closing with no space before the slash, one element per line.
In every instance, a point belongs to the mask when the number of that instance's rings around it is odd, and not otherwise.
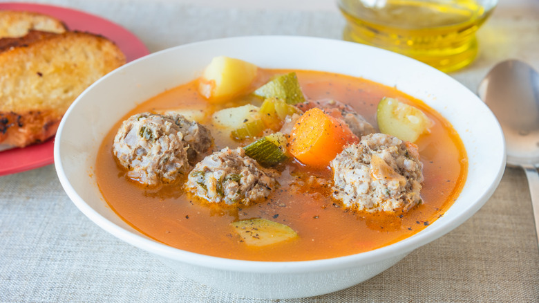
<path fill-rule="evenodd" d="M 262 98 L 283 99 L 287 104 L 292 105 L 305 102 L 305 97 L 295 72 L 274 78 L 254 91 L 254 95 Z"/>

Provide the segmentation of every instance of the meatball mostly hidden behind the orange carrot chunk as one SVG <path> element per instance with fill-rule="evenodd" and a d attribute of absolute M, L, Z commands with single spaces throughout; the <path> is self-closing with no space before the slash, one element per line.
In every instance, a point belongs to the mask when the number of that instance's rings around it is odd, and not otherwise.
<path fill-rule="evenodd" d="M 307 111 L 313 107 L 323 109 L 323 111 L 328 115 L 342 119 L 346 125 L 350 127 L 352 134 L 356 135 L 357 138 L 361 138 L 362 136 L 376 132 L 375 127 L 367 122 L 363 116 L 354 111 L 350 105 L 344 104 L 337 100 L 319 100 L 316 102 L 307 101 L 296 105 L 296 107 L 302 111 Z"/>

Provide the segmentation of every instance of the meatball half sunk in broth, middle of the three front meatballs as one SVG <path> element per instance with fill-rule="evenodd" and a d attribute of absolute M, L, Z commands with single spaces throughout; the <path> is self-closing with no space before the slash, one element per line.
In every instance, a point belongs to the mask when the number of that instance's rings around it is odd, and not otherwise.
<path fill-rule="evenodd" d="M 275 172 L 261 167 L 238 147 L 225 147 L 198 163 L 187 178 L 186 191 L 211 203 L 250 205 L 265 199 L 276 185 Z"/>

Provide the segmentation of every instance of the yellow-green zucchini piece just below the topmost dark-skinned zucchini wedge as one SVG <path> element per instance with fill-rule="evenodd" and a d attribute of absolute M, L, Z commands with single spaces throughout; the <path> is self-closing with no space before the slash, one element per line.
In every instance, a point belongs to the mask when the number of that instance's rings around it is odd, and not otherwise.
<path fill-rule="evenodd" d="M 294 113 L 301 115 L 303 112 L 278 98 L 267 98 L 260 107 L 260 116 L 264 125 L 274 131 L 281 129 L 285 118 Z"/>

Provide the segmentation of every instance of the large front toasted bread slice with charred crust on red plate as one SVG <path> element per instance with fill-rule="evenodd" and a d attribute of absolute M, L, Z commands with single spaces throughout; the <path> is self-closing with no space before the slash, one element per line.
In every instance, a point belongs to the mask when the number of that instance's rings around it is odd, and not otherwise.
<path fill-rule="evenodd" d="M 4 149 L 53 136 L 75 98 L 125 63 L 120 48 L 98 35 L 66 32 L 26 41 L 30 42 L 0 53 L 0 144 Z"/>

